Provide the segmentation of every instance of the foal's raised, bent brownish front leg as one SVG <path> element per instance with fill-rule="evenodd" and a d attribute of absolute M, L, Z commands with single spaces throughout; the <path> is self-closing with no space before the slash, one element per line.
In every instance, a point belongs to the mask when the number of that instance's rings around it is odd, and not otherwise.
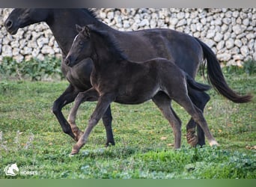
<path fill-rule="evenodd" d="M 93 88 L 84 92 L 79 92 L 79 94 L 76 96 L 75 104 L 73 105 L 73 108 L 71 108 L 70 114 L 67 117 L 67 121 L 70 123 L 71 129 L 76 135 L 76 141 L 78 141 L 79 138 L 83 135 L 83 132 L 80 131 L 79 128 L 76 126 L 76 114 L 79 109 L 79 105 L 81 105 L 82 102 L 85 102 L 89 98 L 91 100 L 97 101 L 98 97 L 99 94 Z"/>

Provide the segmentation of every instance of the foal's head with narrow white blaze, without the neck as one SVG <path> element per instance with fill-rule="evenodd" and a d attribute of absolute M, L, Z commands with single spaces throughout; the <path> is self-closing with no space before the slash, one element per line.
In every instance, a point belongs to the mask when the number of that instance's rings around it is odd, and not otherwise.
<path fill-rule="evenodd" d="M 79 61 L 82 61 L 82 59 L 91 57 L 93 48 L 90 40 L 90 26 L 91 25 L 85 25 L 85 27 L 81 27 L 76 25 L 76 30 L 79 34 L 77 34 L 73 40 L 70 52 L 68 52 L 65 59 L 67 66 L 73 67 L 78 64 Z"/>

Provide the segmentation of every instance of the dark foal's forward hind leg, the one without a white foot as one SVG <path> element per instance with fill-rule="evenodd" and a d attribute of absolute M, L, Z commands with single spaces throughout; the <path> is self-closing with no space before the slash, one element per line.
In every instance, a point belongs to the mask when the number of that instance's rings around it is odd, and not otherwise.
<path fill-rule="evenodd" d="M 171 99 L 165 93 L 157 93 L 156 96 L 153 96 L 153 102 L 157 107 L 162 111 L 164 117 L 170 123 L 174 131 L 174 148 L 180 148 L 181 144 L 181 121 L 177 117 L 177 114 L 171 108 Z"/>

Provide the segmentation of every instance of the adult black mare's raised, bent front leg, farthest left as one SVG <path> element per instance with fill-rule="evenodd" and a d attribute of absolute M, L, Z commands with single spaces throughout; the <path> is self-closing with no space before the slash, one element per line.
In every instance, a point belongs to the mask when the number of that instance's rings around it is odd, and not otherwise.
<path fill-rule="evenodd" d="M 58 99 L 55 100 L 52 107 L 52 112 L 55 114 L 55 117 L 57 117 L 58 123 L 61 124 L 63 132 L 67 135 L 70 135 L 75 141 L 77 141 L 76 135 L 74 135 L 72 129 L 70 128 L 70 124 L 67 122 L 64 115 L 62 114 L 61 108 L 63 108 L 64 105 L 73 102 L 78 93 L 79 91 L 76 88 L 74 88 L 72 85 L 69 85 L 66 91 L 64 91 L 64 93 L 62 93 L 61 96 L 59 96 Z"/>

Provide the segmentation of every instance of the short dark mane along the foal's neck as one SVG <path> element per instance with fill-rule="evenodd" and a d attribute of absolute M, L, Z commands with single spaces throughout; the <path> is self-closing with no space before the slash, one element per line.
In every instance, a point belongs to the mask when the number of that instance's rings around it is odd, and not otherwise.
<path fill-rule="evenodd" d="M 109 49 L 109 52 L 112 55 L 115 55 L 122 60 L 127 60 L 127 55 L 124 53 L 124 50 L 118 45 L 118 41 L 112 34 L 109 34 L 108 31 L 101 30 L 101 28 L 97 28 L 97 26 L 90 26 L 91 34 L 97 35 L 96 37 L 100 37 L 100 40 L 103 40 L 103 45 L 106 45 Z"/>

